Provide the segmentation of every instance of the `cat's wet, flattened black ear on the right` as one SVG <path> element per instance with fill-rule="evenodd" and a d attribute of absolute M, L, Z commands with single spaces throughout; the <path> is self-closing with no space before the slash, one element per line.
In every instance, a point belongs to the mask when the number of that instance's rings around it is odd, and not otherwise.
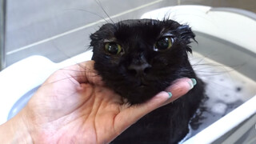
<path fill-rule="evenodd" d="M 190 48 L 190 46 L 188 46 L 188 44 L 190 44 L 192 42 L 192 40 L 194 42 L 197 42 L 194 37 L 195 37 L 195 34 L 192 32 L 190 26 L 188 25 L 181 25 L 181 26 L 178 26 L 178 29 L 177 29 L 178 33 L 180 34 L 180 37 L 182 38 L 182 41 L 184 43 L 186 43 L 186 50 L 190 53 L 192 53 L 192 50 Z"/>

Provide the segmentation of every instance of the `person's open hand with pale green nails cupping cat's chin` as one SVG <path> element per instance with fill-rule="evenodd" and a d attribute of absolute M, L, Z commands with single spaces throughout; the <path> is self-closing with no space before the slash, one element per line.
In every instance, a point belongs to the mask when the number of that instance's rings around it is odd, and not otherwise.
<path fill-rule="evenodd" d="M 192 87 L 189 78 L 181 78 L 166 89 L 171 98 L 162 91 L 145 103 L 130 106 L 103 85 L 93 61 L 82 62 L 52 74 L 9 126 L 13 132 L 19 127 L 18 135 L 26 142 L 109 143 L 139 118 Z"/>

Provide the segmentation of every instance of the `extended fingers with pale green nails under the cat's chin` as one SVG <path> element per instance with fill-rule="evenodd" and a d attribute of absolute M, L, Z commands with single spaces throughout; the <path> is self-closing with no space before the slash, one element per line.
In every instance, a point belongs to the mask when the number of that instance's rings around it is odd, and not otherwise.
<path fill-rule="evenodd" d="M 125 110 L 122 110 L 115 119 L 115 130 L 118 133 L 122 133 L 134 122 L 137 122 L 139 118 L 150 113 L 150 111 L 157 109 L 160 106 L 166 105 L 167 103 L 174 102 L 177 98 L 186 94 L 190 89 L 193 88 L 193 82 L 190 78 L 180 78 L 174 82 L 174 84 L 158 93 L 154 98 L 149 101 L 130 106 Z M 171 93 L 170 93 L 171 92 Z"/>

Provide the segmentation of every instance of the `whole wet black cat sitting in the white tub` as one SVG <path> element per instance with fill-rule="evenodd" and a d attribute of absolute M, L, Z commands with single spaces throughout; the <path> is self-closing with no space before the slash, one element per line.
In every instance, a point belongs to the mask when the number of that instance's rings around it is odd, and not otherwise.
<path fill-rule="evenodd" d="M 107 23 L 91 34 L 94 68 L 106 86 L 130 104 L 145 102 L 177 78 L 196 78 L 182 98 L 154 110 L 112 143 L 177 143 L 204 97 L 204 84 L 187 57 L 195 35 L 172 20 L 126 20 Z"/>

